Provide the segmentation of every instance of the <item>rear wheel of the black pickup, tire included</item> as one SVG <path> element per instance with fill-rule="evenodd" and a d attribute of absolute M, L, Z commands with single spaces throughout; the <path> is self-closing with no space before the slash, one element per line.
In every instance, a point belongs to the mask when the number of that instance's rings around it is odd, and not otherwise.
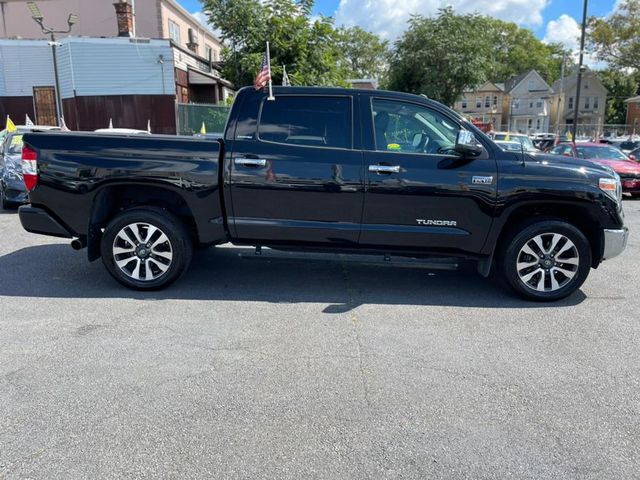
<path fill-rule="evenodd" d="M 189 268 L 193 242 L 175 215 L 160 208 L 145 207 L 126 210 L 116 216 L 102 235 L 100 249 L 107 271 L 122 285 L 133 290 L 160 290 L 175 282 Z M 117 253 L 114 249 L 126 252 Z"/>

